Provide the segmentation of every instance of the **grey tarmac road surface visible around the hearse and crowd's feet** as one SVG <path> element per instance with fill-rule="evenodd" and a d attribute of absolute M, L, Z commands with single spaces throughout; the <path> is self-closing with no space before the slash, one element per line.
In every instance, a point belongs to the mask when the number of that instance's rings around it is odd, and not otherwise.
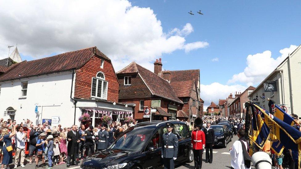
<path fill-rule="evenodd" d="M 221 147 L 213 147 L 213 160 L 212 163 L 205 163 L 205 151 L 203 154 L 203 164 L 202 164 L 202 168 L 220 168 L 220 169 L 224 169 L 224 168 L 231 168 L 231 156 L 229 153 L 229 148 L 232 147 L 232 144 L 234 141 L 238 140 L 238 137 L 236 135 L 233 135 L 232 138 L 232 142 L 229 142 L 226 148 L 221 148 Z M 34 162 L 34 159 L 32 160 Z M 35 163 L 29 164 L 28 163 L 29 160 L 26 158 L 25 159 L 25 167 L 22 168 L 21 166 L 18 166 L 17 168 L 19 169 L 34 169 L 35 168 Z M 79 169 L 80 168 L 80 164 L 81 164 L 81 160 L 78 161 L 78 166 L 70 166 L 69 168 L 66 167 L 66 163 L 64 164 L 60 164 L 58 166 L 53 166 L 53 169 Z M 39 165 L 42 162 L 39 161 Z M 13 168 L 14 165 L 11 164 L 10 168 Z M 176 169 L 193 169 L 194 168 L 194 162 L 192 163 L 182 163 L 181 165 L 177 165 L 175 166 Z M 39 167 L 40 169 L 43 169 L 42 167 Z M 252 169 L 255 169 L 254 166 L 251 167 Z"/>

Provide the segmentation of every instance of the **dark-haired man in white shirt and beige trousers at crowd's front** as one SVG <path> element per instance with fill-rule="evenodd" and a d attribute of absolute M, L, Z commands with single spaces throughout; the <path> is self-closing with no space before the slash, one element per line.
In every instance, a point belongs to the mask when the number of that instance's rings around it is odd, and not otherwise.
<path fill-rule="evenodd" d="M 15 153 L 15 156 L 14 156 L 14 168 L 17 168 L 19 158 L 20 158 L 21 167 L 25 167 L 24 166 L 24 159 L 25 159 L 25 137 L 26 137 L 26 134 L 23 133 L 23 127 L 21 127 L 21 126 L 18 126 L 16 128 L 16 131 L 18 131 L 18 132 L 16 133 L 16 138 L 15 138 L 16 139 L 16 153 Z"/>

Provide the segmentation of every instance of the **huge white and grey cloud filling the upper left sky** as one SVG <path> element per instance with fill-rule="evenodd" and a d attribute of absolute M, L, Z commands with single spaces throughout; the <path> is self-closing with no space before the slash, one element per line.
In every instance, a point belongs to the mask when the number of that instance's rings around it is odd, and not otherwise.
<path fill-rule="evenodd" d="M 186 42 L 190 23 L 164 33 L 153 10 L 126 0 L 0 1 L 0 10 L 0 58 L 16 42 L 21 54 L 34 58 L 97 46 L 116 71 L 132 61 L 153 70 L 152 62 L 164 53 L 208 46 Z"/>

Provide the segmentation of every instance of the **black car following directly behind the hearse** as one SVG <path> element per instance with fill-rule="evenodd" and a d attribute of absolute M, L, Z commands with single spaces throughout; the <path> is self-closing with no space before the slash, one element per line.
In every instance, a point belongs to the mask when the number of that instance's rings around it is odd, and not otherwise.
<path fill-rule="evenodd" d="M 232 141 L 231 132 L 226 125 L 212 125 L 214 130 L 215 140 L 214 146 L 227 147 L 227 144 Z"/>

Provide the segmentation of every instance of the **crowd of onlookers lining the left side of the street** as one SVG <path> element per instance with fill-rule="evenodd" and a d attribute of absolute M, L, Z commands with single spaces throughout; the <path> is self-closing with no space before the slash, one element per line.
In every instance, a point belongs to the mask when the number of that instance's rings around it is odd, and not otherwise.
<path fill-rule="evenodd" d="M 35 160 L 35 168 L 43 167 L 51 169 L 53 166 L 67 163 L 77 165 L 76 161 L 83 160 L 101 149 L 109 147 L 114 140 L 133 123 L 124 124 L 113 121 L 109 126 L 104 123 L 95 127 L 87 124 L 64 127 L 45 123 L 34 125 L 29 119 L 16 120 L 0 119 L 0 163 L 1 169 L 9 169 L 13 163 L 14 168 L 20 164 L 25 167 L 25 157 L 29 157 L 29 165 Z M 103 144 L 104 143 L 104 144 Z M 27 145 L 27 146 L 26 146 Z M 25 152 L 28 154 L 25 155 Z M 40 163 L 39 165 L 39 162 Z M 46 161 L 48 161 L 46 163 Z"/>

